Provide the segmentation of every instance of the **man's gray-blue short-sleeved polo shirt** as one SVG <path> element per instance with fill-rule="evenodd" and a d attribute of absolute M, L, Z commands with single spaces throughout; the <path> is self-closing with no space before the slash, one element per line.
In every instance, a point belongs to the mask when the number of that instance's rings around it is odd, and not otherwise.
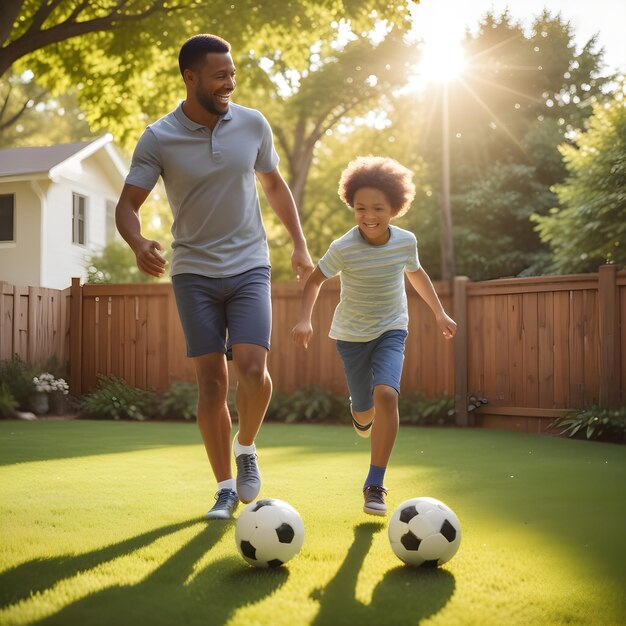
<path fill-rule="evenodd" d="M 269 265 L 254 172 L 277 166 L 259 111 L 231 103 L 211 131 L 180 104 L 146 128 L 126 182 L 152 189 L 163 177 L 174 215 L 172 275 L 234 276 Z"/>

